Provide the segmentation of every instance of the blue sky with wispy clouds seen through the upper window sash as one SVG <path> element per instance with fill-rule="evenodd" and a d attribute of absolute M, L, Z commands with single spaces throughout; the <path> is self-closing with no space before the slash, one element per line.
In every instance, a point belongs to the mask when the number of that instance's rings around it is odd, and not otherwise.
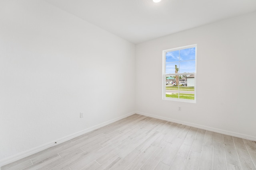
<path fill-rule="evenodd" d="M 196 59 L 195 47 L 167 52 L 166 53 L 166 74 L 175 73 L 175 65 L 178 66 L 179 73 L 195 72 L 195 69 L 196 69 L 195 59 Z"/>

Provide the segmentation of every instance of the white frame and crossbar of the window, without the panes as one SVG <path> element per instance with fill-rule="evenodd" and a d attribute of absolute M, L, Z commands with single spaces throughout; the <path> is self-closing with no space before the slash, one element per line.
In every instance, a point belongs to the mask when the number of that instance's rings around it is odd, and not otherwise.
<path fill-rule="evenodd" d="M 178 48 L 173 48 L 173 49 L 168 49 L 163 51 L 163 100 L 172 100 L 172 101 L 180 101 L 180 102 L 190 102 L 190 103 L 196 103 L 196 56 L 195 56 L 195 72 L 190 72 L 190 73 L 172 73 L 172 74 L 166 74 L 166 53 L 170 51 L 178 51 L 182 49 L 189 49 L 189 48 L 196 48 L 195 55 L 197 56 L 197 45 L 188 45 L 184 47 L 178 47 Z M 180 64 L 180 61 L 179 61 Z M 180 68 L 180 66 L 179 66 Z M 180 76 L 180 75 L 194 75 L 194 100 L 189 100 L 189 99 L 180 99 L 180 98 L 168 98 L 166 97 L 166 76 Z M 178 90 L 180 86 L 177 86 Z"/>

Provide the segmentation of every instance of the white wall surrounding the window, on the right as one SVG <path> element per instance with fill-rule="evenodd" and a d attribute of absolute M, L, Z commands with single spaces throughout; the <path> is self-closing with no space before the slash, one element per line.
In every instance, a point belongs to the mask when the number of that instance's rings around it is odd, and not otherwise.
<path fill-rule="evenodd" d="M 193 44 L 196 104 L 162 100 L 162 51 Z M 256 139 L 255 47 L 256 12 L 136 45 L 136 111 Z"/>

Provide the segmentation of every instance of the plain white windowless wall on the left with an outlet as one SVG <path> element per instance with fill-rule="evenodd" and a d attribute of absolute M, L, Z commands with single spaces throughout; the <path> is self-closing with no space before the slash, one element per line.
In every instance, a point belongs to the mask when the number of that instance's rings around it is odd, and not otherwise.
<path fill-rule="evenodd" d="M 135 45 L 99 27 L 2 0 L 0 160 L 133 112 L 134 63 Z"/>

